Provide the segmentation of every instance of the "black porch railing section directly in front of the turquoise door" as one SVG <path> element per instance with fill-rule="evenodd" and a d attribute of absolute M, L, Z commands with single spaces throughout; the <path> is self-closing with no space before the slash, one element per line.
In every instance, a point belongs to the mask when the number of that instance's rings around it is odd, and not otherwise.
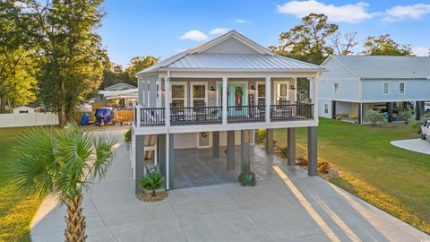
<path fill-rule="evenodd" d="M 228 106 L 228 123 L 264 122 L 265 108 L 265 105 Z"/>

